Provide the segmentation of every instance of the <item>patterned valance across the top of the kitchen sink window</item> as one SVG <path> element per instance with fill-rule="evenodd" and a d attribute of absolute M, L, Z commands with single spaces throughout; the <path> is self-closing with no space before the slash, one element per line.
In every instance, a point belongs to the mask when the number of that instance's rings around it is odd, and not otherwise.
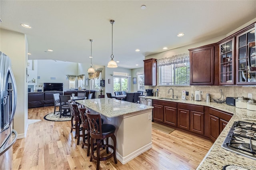
<path fill-rule="evenodd" d="M 173 55 L 171 57 L 157 59 L 157 66 L 189 63 L 189 53 Z"/>

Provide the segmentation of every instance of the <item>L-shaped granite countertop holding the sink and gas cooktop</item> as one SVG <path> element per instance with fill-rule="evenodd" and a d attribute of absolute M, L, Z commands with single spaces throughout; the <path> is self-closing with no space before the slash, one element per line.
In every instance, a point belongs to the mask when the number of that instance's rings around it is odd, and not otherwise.
<path fill-rule="evenodd" d="M 163 101 L 170 101 L 166 99 L 158 99 L 158 97 L 150 97 L 150 96 L 142 96 L 148 99 L 157 99 Z M 206 103 L 205 101 L 191 101 L 191 100 L 175 100 L 171 102 L 178 102 L 178 103 L 186 103 L 186 104 L 193 104 L 193 105 L 201 105 L 201 106 L 208 106 L 214 109 L 219 109 L 221 111 L 225 111 L 228 113 L 232 113 L 233 116 L 221 132 L 220 136 L 212 145 L 212 148 L 208 151 L 200 165 L 197 167 L 198 170 L 206 170 L 206 169 L 213 169 L 213 170 L 222 170 L 225 165 L 237 165 L 242 168 L 246 169 L 256 169 L 256 160 L 251 158 L 247 158 L 245 156 L 236 154 L 234 152 L 228 151 L 221 147 L 223 144 L 230 128 L 232 127 L 234 121 L 242 121 L 242 118 L 248 119 L 256 119 L 256 111 L 249 111 L 247 109 L 239 109 L 234 106 L 226 105 L 226 103 L 215 103 L 210 102 Z M 253 122 L 256 121 L 246 121 L 246 122 Z"/>

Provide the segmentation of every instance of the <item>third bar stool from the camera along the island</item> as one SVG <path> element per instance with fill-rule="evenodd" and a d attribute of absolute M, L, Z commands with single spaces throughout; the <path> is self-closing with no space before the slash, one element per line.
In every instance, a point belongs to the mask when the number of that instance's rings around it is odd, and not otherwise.
<path fill-rule="evenodd" d="M 78 145 L 79 141 L 80 141 L 80 137 L 82 137 L 82 134 L 80 134 L 80 130 L 82 130 L 82 129 L 80 129 L 80 125 L 81 125 L 82 120 L 80 118 L 78 107 L 77 107 L 77 104 L 76 104 L 75 101 L 72 101 L 70 103 L 70 110 L 74 115 L 75 129 L 76 129 L 75 138 L 77 138 L 76 144 Z"/>

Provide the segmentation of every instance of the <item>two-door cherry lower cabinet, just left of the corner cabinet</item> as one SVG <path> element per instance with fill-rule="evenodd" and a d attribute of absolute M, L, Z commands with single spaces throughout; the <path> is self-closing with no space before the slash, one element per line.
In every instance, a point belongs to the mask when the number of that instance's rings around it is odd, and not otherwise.
<path fill-rule="evenodd" d="M 204 135 L 204 107 L 178 103 L 178 127 Z"/>

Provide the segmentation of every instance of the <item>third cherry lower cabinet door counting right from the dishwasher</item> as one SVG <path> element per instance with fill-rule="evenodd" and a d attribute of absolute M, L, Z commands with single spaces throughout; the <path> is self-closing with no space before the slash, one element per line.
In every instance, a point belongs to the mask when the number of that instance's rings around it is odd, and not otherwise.
<path fill-rule="evenodd" d="M 189 110 L 178 109 L 178 127 L 189 130 Z"/>

